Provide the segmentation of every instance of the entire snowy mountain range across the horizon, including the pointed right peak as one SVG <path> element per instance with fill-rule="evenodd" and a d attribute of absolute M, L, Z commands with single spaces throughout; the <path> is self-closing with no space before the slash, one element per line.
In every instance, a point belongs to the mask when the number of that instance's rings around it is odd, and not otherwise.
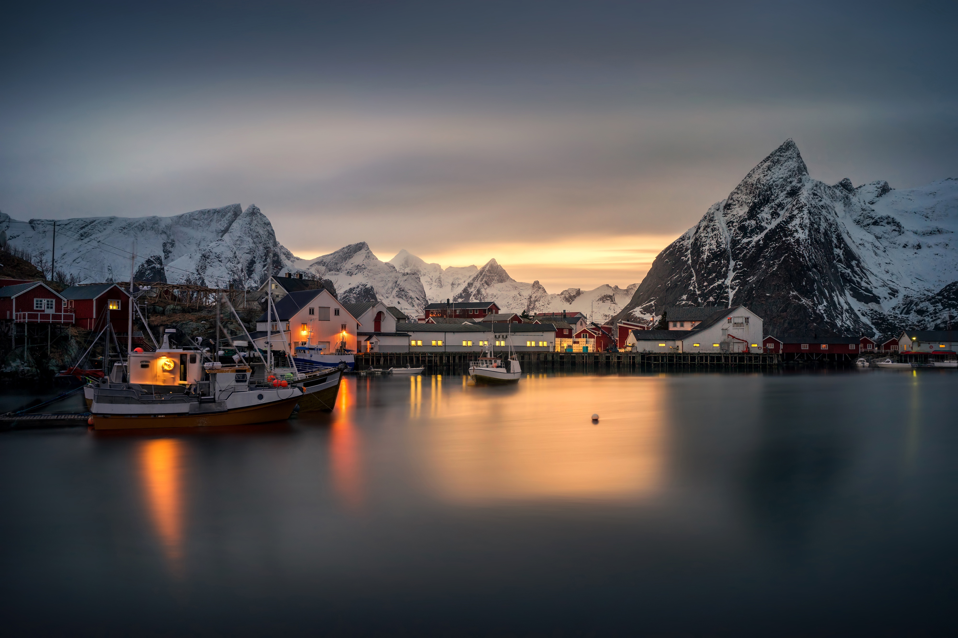
<path fill-rule="evenodd" d="M 53 220 L 0 214 L 0 234 L 50 263 Z M 57 269 L 80 282 L 136 279 L 257 286 L 267 270 L 330 280 L 343 301 L 379 299 L 418 314 L 430 302 L 491 300 L 506 311 L 649 318 L 671 306 L 744 304 L 769 332 L 887 333 L 958 323 L 958 179 L 896 190 L 812 179 L 794 142 L 775 149 L 652 263 L 641 285 L 549 294 L 482 267 L 426 263 L 405 250 L 382 262 L 365 242 L 313 260 L 277 242 L 256 206 L 171 217 L 57 220 Z M 2 239 L 0 235 L 0 239 Z M 271 256 L 272 263 L 266 262 Z"/>

